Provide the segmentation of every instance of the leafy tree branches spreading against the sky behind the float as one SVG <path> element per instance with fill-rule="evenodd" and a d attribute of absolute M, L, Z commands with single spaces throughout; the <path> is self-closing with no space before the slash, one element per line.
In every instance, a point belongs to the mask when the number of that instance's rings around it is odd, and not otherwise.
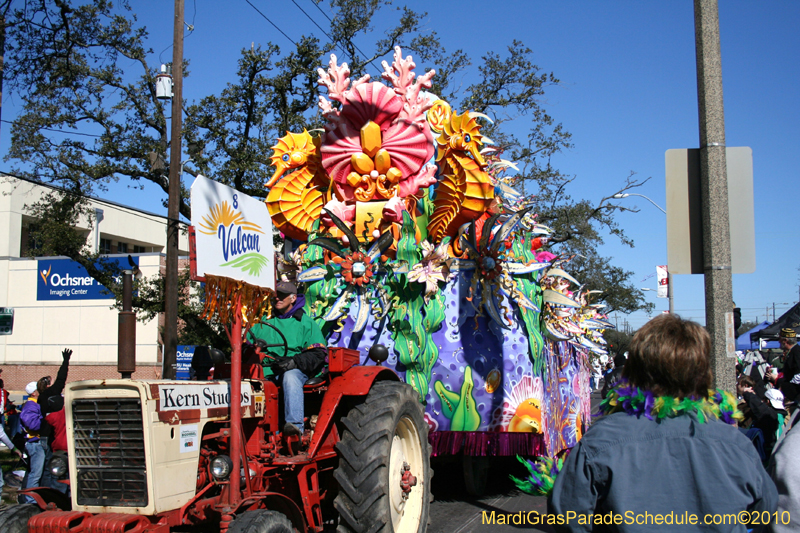
<path fill-rule="evenodd" d="M 85 216 L 85 197 L 101 193 L 112 181 L 133 186 L 151 182 L 168 191 L 169 177 L 157 164 L 167 155 L 168 122 L 155 95 L 158 65 L 148 63 L 148 33 L 126 0 L 24 0 L 14 9 L 9 5 L 0 1 L 0 15 L 4 6 L 7 10 L 3 35 L 10 57 L 4 78 L 23 111 L 11 128 L 6 160 L 24 162 L 15 173 L 60 187 L 32 206 L 43 220 L 53 221 L 40 226 L 34 238 L 46 243 L 49 253 L 75 259 L 118 291 L 102 265 L 97 266 L 97 257 L 82 246 L 80 232 L 69 233 L 67 227 Z M 545 89 L 558 79 L 534 64 L 529 48 L 514 41 L 503 53 L 487 52 L 473 69 L 462 50 L 447 52 L 436 32 L 425 27 L 426 13 L 401 7 L 395 26 L 378 29 L 377 14 L 393 8 L 389 1 L 330 0 L 330 8 L 335 16 L 324 32 L 327 41 L 306 36 L 290 49 L 266 43 L 243 50 L 237 79 L 220 94 L 185 103 L 182 141 L 205 147 L 190 171 L 201 170 L 242 192 L 263 196 L 262 184 L 271 174 L 271 139 L 321 123 L 316 69 L 327 64 L 326 56 L 342 52 L 340 60 L 348 62 L 353 77 L 367 72 L 375 76 L 382 70 L 378 61 L 401 46 L 414 55 L 418 70 L 437 70 L 435 94 L 454 109 L 492 118 L 484 133 L 506 159 L 518 163 L 517 186 L 534 195 L 539 220 L 554 230 L 548 246 L 574 254 L 569 268 L 604 291 L 595 301 L 605 300 L 610 310 L 648 309 L 630 284 L 631 273 L 597 253 L 605 233 L 630 244 L 614 221 L 614 214 L 626 208 L 612 201 L 613 194 L 597 204 L 571 198 L 567 188 L 574 177 L 550 164 L 554 154 L 571 146 L 570 134 L 541 103 Z M 375 44 L 366 51 L 355 44 L 369 40 Z M 185 76 L 187 69 L 185 62 L 175 70 Z M 476 81 L 462 90 L 467 74 Z M 526 131 L 518 136 L 520 125 Z M 615 192 L 639 185 L 628 179 Z M 186 194 L 180 213 L 189 217 Z M 152 290 L 140 289 L 137 305 L 144 316 L 159 306 L 159 283 L 153 282 Z M 187 324 L 197 314 L 190 302 L 181 310 Z"/>

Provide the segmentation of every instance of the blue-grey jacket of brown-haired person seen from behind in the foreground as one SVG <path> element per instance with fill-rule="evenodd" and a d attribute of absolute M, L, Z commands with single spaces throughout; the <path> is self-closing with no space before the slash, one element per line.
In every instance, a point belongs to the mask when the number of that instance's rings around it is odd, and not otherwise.
<path fill-rule="evenodd" d="M 580 525 L 578 519 L 557 531 L 747 531 L 743 525 L 704 525 L 706 514 L 743 510 L 773 512 L 775 484 L 761 466 L 753 444 L 739 430 L 718 420 L 701 424 L 694 413 L 655 422 L 614 413 L 592 425 L 564 462 L 548 512 L 565 516 L 621 515 L 619 525 Z M 626 513 L 628 513 L 626 515 Z M 636 524 L 672 513 L 673 525 Z M 694 514 L 694 527 L 675 525 Z M 625 521 L 632 521 L 626 524 Z M 596 518 L 594 519 L 596 520 Z"/>

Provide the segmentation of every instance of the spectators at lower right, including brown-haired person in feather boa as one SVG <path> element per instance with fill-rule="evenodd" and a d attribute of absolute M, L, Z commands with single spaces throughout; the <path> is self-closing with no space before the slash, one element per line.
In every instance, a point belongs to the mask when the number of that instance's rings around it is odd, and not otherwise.
<path fill-rule="evenodd" d="M 621 522 L 604 531 L 800 531 L 800 429 L 792 429 L 800 347 L 793 329 L 781 330 L 780 346 L 783 356 L 772 364 L 737 366 L 734 395 L 711 388 L 711 339 L 703 327 L 674 315 L 648 322 L 627 359 L 618 356 L 605 369 L 604 416 L 564 461 L 549 512 L 588 520 L 618 515 Z M 748 523 L 740 513 L 771 518 Z M 675 521 L 654 527 L 656 515 Z M 734 515 L 736 523 L 716 522 Z M 679 521 L 690 517 L 698 522 Z M 556 530 L 597 528 L 576 519 Z"/>

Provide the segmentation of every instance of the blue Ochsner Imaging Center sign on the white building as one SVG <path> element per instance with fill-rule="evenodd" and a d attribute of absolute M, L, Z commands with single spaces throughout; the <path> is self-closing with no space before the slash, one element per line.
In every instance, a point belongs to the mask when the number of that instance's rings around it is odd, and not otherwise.
<path fill-rule="evenodd" d="M 121 264 L 120 261 L 124 260 Z M 139 264 L 139 258 L 134 257 Z M 120 268 L 128 268 L 127 258 L 109 258 Z M 42 300 L 109 300 L 114 295 L 91 277 L 72 259 L 39 259 L 36 276 L 36 299 Z"/>

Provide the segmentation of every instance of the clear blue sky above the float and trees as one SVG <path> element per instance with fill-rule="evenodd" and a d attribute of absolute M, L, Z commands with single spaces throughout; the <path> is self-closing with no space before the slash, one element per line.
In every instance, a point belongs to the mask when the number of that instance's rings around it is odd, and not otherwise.
<path fill-rule="evenodd" d="M 301 35 L 315 34 L 326 39 L 298 7 L 326 27 L 327 20 L 311 0 L 295 0 L 297 5 L 251 1 L 289 38 L 297 41 Z M 573 197 L 599 200 L 619 189 L 633 171 L 637 178 L 651 177 L 635 192 L 666 208 L 664 152 L 695 148 L 699 142 L 691 1 L 465 0 L 409 5 L 427 11 L 426 28 L 435 30 L 448 50 L 463 48 L 474 64 L 487 51 L 502 54 L 517 39 L 533 50 L 539 67 L 561 80 L 547 91 L 544 103 L 573 134 L 574 148 L 553 159 L 556 168 L 576 177 L 569 191 Z M 488 9 L 489 5 L 495 7 Z M 134 6 L 150 30 L 153 63 L 159 53 L 162 61 L 170 61 L 172 3 Z M 330 15 L 326 4 L 320 7 Z M 387 12 L 386 20 L 396 13 Z M 184 97 L 190 101 L 233 81 L 240 51 L 251 43 L 292 46 L 245 0 L 186 0 L 186 21 L 194 24 L 184 45 L 191 61 Z M 767 307 L 771 318 L 773 303 L 780 315 L 798 301 L 800 292 L 799 27 L 800 2 L 720 2 L 726 142 L 753 149 L 756 272 L 733 277 L 734 300 L 745 320 L 763 320 Z M 367 51 L 376 38 L 357 44 Z M 465 85 L 470 82 L 469 76 L 464 78 Z M 14 100 L 4 100 L 3 119 L 11 120 Z M 0 136 L 3 154 L 7 132 L 4 127 Z M 156 212 L 162 210 L 161 197 L 155 188 L 109 191 L 109 199 Z M 655 288 L 651 275 L 656 265 L 666 263 L 666 218 L 642 198 L 622 201 L 640 209 L 619 215 L 635 247 L 608 238 L 601 252 L 633 271 L 638 287 Z M 703 291 L 702 276 L 674 276 L 676 312 L 704 322 Z M 656 312 L 665 310 L 667 300 L 654 295 L 645 293 L 656 303 Z M 619 317 L 620 321 L 623 318 L 634 328 L 648 319 L 644 313 Z"/>

